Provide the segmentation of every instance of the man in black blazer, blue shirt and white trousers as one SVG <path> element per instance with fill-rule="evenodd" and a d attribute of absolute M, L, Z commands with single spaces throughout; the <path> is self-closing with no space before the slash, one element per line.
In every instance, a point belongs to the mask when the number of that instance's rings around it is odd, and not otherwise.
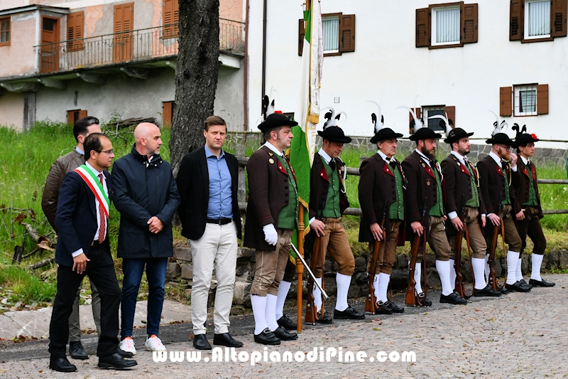
<path fill-rule="evenodd" d="M 219 116 L 207 117 L 203 136 L 205 146 L 187 154 L 178 171 L 182 235 L 191 246 L 193 287 L 191 317 L 193 346 L 209 350 L 205 336 L 207 299 L 213 269 L 217 275 L 213 343 L 241 347 L 229 334 L 229 314 L 233 303 L 236 269 L 236 238 L 241 237 L 241 213 L 236 198 L 239 164 L 222 149 L 226 123 Z"/>

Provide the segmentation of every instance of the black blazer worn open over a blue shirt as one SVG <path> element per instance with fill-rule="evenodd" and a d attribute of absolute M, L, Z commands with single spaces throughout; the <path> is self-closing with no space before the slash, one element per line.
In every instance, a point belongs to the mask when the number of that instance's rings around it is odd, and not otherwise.
<path fill-rule="evenodd" d="M 236 198 L 239 189 L 239 163 L 234 155 L 226 151 L 225 161 L 231 173 L 231 202 L 236 235 L 241 238 L 241 212 Z M 177 181 L 181 196 L 178 214 L 182 221 L 182 235 L 190 240 L 199 240 L 205 232 L 209 206 L 209 169 L 203 146 L 183 158 Z"/>

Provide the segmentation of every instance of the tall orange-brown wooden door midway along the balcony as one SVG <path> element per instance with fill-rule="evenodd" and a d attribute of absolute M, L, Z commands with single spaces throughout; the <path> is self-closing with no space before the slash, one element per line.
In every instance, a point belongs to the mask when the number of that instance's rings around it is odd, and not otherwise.
<path fill-rule="evenodd" d="M 114 6 L 114 62 L 124 62 L 132 58 L 132 33 L 134 22 L 134 3 Z"/>

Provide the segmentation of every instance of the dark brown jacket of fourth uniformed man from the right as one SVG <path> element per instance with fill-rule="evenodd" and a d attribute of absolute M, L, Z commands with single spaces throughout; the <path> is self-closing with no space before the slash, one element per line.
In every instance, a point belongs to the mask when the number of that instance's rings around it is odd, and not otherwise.
<path fill-rule="evenodd" d="M 406 227 L 410 228 L 410 223 L 422 220 L 422 206 L 425 200 L 425 223 L 428 225 L 430 223 L 430 208 L 437 201 L 436 177 L 434 171 L 432 171 L 434 168 L 430 168 L 425 159 L 416 151 L 413 151 L 403 161 L 403 169 L 408 182 L 405 201 Z M 445 198 L 444 186 L 444 179 L 442 179 L 442 202 Z M 408 234 L 408 238 L 413 238 L 413 233 Z"/>

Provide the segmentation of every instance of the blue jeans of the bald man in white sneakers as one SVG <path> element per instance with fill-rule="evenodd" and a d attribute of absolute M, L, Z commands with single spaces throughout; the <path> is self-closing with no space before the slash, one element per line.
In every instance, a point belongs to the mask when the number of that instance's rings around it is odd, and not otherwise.
<path fill-rule="evenodd" d="M 146 265 L 146 279 L 148 279 L 148 336 L 160 331 L 160 319 L 164 303 L 165 269 L 168 267 L 168 258 L 123 258 L 121 300 L 121 338 L 131 337 L 136 311 L 136 298 Z"/>

